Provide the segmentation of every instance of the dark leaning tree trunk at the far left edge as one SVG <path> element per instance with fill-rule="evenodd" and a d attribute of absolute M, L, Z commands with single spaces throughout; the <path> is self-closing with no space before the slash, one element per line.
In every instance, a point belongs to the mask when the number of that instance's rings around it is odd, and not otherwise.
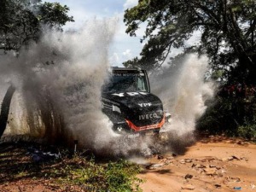
<path fill-rule="evenodd" d="M 13 85 L 10 85 L 8 90 L 6 91 L 5 96 L 3 97 L 0 113 L 0 138 L 3 136 L 3 132 L 5 131 L 6 125 L 8 123 L 9 107 L 14 93 L 15 87 Z"/>

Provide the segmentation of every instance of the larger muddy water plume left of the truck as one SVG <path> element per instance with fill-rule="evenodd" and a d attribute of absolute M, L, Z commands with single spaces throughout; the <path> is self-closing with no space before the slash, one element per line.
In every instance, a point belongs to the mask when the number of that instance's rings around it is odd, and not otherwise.
<path fill-rule="evenodd" d="M 2 55 L 1 96 L 9 83 L 17 89 L 10 115 L 15 123 L 6 133 L 77 139 L 93 148 L 108 142 L 112 132 L 100 96 L 115 25 L 92 20 L 79 32 L 48 32 L 18 57 Z"/>

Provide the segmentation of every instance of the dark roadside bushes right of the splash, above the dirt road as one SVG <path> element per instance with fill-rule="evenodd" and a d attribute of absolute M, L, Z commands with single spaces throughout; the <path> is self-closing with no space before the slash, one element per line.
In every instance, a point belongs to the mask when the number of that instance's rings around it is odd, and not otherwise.
<path fill-rule="evenodd" d="M 221 90 L 198 120 L 197 130 L 256 142 L 256 97 L 227 96 Z"/>

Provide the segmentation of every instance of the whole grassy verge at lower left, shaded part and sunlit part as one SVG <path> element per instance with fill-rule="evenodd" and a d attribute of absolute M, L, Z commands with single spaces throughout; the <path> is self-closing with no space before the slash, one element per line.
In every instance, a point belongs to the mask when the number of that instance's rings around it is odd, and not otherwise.
<path fill-rule="evenodd" d="M 41 184 L 55 191 L 140 192 L 141 167 L 127 160 L 96 162 L 62 152 L 61 159 L 35 162 L 28 143 L 0 143 L 0 190 L 9 183 Z M 41 148 L 37 146 L 38 148 Z M 17 184 L 18 183 L 18 184 Z M 4 191 L 4 190 L 3 190 Z"/>

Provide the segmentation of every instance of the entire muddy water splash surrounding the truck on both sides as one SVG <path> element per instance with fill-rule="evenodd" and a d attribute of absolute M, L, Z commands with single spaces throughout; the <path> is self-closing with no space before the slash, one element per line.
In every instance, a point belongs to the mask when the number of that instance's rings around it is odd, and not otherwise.
<path fill-rule="evenodd" d="M 70 145 L 78 140 L 79 146 L 106 155 L 150 155 L 180 148 L 180 142 L 172 142 L 195 130 L 195 121 L 213 94 L 212 84 L 204 81 L 207 57 L 189 55 L 177 67 L 151 76 L 152 92 L 173 117 L 166 127 L 170 133 L 166 143 L 152 137 L 120 137 L 102 113 L 100 98 L 102 84 L 108 79 L 108 49 L 115 24 L 116 20 L 91 20 L 78 32 L 49 31 L 18 57 L 1 55 L 0 98 L 8 82 L 17 88 L 6 134 L 29 133 Z"/>

